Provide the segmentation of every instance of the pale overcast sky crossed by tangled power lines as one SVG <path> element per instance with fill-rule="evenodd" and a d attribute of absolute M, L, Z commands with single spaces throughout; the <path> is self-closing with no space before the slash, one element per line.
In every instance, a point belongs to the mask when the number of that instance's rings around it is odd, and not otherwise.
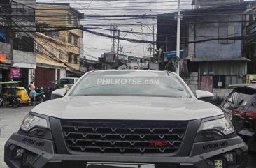
<path fill-rule="evenodd" d="M 108 26 L 101 26 L 104 29 L 110 29 L 110 25 L 118 25 L 121 31 L 135 31 L 148 33 L 147 35 L 134 33 L 120 33 L 121 37 L 139 39 L 139 40 L 153 40 L 152 24 L 156 24 L 156 19 L 132 19 L 132 20 L 111 20 L 111 18 L 102 18 L 99 20 L 89 20 L 87 15 L 156 15 L 161 13 L 175 12 L 178 8 L 177 0 L 37 0 L 38 2 L 50 3 L 70 3 L 71 7 L 76 8 L 81 13 L 85 13 L 85 26 L 92 26 L 92 24 L 107 24 Z M 192 0 L 181 0 L 181 9 L 191 9 Z M 120 25 L 122 24 L 122 25 Z M 136 25 L 123 25 L 136 24 Z M 97 26 L 99 27 L 99 26 Z M 100 33 L 111 34 L 108 30 L 90 29 Z M 155 34 L 156 34 L 155 25 Z M 156 37 L 155 37 L 156 40 Z M 117 40 L 116 40 L 117 43 Z M 115 46 L 117 44 L 115 43 Z M 112 46 L 111 38 L 96 36 L 91 33 L 84 32 L 84 56 L 87 59 L 96 59 L 104 52 L 110 52 Z M 152 56 L 148 52 L 147 43 L 131 43 L 125 40 L 120 40 L 120 46 L 124 47 L 123 54 L 130 56 Z"/>

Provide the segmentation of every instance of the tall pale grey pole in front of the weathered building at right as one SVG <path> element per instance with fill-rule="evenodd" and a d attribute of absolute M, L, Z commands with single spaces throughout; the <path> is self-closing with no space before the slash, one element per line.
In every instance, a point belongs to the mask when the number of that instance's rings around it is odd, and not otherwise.
<path fill-rule="evenodd" d="M 180 75 L 180 0 L 178 0 L 176 56 L 178 57 L 176 73 Z"/>

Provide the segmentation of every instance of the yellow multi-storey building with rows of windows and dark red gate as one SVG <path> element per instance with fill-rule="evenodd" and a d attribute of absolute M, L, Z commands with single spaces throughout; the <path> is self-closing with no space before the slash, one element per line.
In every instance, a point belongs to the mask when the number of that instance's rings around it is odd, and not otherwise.
<path fill-rule="evenodd" d="M 36 85 L 53 87 L 55 81 L 62 77 L 83 75 L 80 71 L 83 31 L 76 29 L 83 13 L 71 8 L 68 3 L 36 3 L 36 9 L 36 21 L 50 27 L 48 31 L 36 33 Z M 71 30 L 52 31 L 53 27 L 71 27 Z"/>

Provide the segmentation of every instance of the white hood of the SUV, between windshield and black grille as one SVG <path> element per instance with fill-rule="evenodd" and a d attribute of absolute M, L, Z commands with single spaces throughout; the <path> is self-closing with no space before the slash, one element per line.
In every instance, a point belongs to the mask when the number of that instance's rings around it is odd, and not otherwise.
<path fill-rule="evenodd" d="M 43 102 L 32 112 L 61 119 L 194 120 L 223 112 L 196 98 L 134 96 L 64 97 Z"/>

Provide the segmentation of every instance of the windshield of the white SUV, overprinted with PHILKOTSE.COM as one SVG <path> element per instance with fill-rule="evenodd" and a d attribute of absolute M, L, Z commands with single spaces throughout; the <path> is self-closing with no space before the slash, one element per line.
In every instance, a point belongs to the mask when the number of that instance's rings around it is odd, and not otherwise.
<path fill-rule="evenodd" d="M 168 72 L 91 72 L 69 96 L 164 96 L 190 98 L 176 75 Z"/>

